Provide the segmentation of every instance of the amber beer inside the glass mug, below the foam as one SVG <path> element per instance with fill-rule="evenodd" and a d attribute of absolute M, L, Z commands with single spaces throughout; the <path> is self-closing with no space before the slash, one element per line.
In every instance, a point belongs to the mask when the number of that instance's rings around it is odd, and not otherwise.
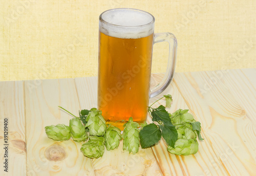
<path fill-rule="evenodd" d="M 147 117 L 153 34 L 118 38 L 99 34 L 98 108 L 109 123 L 122 128 L 133 117 Z M 116 122 L 118 121 L 118 122 Z"/>

